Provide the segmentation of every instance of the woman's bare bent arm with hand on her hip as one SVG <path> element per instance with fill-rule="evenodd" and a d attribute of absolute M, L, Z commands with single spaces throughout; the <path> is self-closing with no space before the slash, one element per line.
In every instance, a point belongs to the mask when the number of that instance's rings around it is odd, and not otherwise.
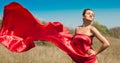
<path fill-rule="evenodd" d="M 91 27 L 91 31 L 94 34 L 94 36 L 100 40 L 100 42 L 102 43 L 102 46 L 97 50 L 97 51 L 89 51 L 91 52 L 92 55 L 97 55 L 100 52 L 102 52 L 103 50 L 105 50 L 107 47 L 110 46 L 109 42 L 107 41 L 107 39 L 95 28 L 95 27 Z"/>

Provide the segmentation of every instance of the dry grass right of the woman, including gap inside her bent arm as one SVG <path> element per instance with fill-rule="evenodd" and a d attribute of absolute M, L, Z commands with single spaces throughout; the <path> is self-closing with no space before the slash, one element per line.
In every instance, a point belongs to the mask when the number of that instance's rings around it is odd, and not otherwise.
<path fill-rule="evenodd" d="M 99 63 L 120 63 L 120 39 L 107 37 L 110 47 L 98 55 Z M 95 49 L 100 47 L 100 42 L 94 40 Z M 99 46 L 98 46 L 99 45 Z"/>

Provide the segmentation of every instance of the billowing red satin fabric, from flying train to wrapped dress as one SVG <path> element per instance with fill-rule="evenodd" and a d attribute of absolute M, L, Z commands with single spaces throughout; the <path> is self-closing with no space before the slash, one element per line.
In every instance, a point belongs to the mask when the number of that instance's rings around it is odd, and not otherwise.
<path fill-rule="evenodd" d="M 33 48 L 35 40 L 46 40 L 66 52 L 76 63 L 94 63 L 96 56 L 87 52 L 92 49 L 91 37 L 76 34 L 74 39 L 60 22 L 41 24 L 32 14 L 16 2 L 4 7 L 0 30 L 0 43 L 13 52 L 25 52 Z"/>

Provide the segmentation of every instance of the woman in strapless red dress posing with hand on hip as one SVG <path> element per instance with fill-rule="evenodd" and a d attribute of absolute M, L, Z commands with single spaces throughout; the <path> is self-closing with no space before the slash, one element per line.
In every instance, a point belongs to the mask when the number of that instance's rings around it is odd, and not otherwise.
<path fill-rule="evenodd" d="M 91 25 L 91 23 L 94 20 L 94 12 L 91 9 L 85 9 L 82 14 L 83 24 L 76 27 L 75 29 L 75 35 L 73 37 L 73 43 L 78 47 L 82 52 L 81 54 L 89 56 L 88 60 L 81 60 L 81 63 L 91 63 L 89 61 L 92 60 L 92 63 L 98 63 L 96 60 L 96 55 L 101 53 L 104 49 L 106 49 L 109 46 L 109 42 L 105 39 L 103 35 L 94 27 Z M 82 39 L 81 35 L 88 36 L 90 38 L 90 41 L 83 38 L 83 40 L 87 40 L 85 43 L 79 42 L 78 39 Z M 100 40 L 102 43 L 102 46 L 98 50 L 93 50 L 92 45 L 92 38 L 96 37 Z M 87 52 L 86 52 L 87 51 Z M 91 59 L 90 59 L 91 58 Z M 82 58 L 81 58 L 82 59 Z M 83 58 L 84 59 L 84 58 Z"/>

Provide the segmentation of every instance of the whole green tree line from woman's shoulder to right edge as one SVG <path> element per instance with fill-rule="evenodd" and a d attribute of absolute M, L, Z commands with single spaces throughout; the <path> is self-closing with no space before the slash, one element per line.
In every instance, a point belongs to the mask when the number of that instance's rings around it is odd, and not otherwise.
<path fill-rule="evenodd" d="M 103 35 L 120 38 L 120 26 L 108 29 L 105 25 L 100 24 L 98 21 L 95 21 L 93 26 L 95 26 Z"/>

